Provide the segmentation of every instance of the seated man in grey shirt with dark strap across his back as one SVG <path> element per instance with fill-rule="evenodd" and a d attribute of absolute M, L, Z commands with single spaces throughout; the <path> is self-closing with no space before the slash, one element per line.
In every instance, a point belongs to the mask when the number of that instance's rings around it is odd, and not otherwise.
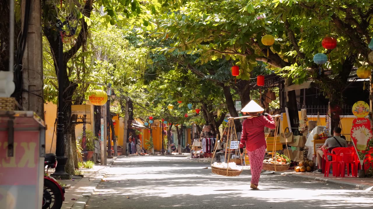
<path fill-rule="evenodd" d="M 341 131 L 342 129 L 339 127 L 335 127 L 333 129 L 333 137 L 330 137 L 325 140 L 325 144 L 321 146 L 321 148 L 335 148 L 335 147 L 347 147 L 347 142 L 345 139 L 341 138 Z M 317 158 L 317 166 L 319 169 L 313 171 L 313 173 L 322 173 L 322 159 L 324 156 L 324 152 L 318 148 L 316 151 L 316 158 Z M 329 159 L 331 160 L 331 159 Z"/>

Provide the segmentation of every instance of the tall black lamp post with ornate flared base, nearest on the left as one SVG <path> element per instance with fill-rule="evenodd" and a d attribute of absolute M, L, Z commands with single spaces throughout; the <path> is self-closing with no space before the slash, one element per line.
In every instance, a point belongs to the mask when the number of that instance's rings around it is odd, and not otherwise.
<path fill-rule="evenodd" d="M 61 25 L 59 25 L 61 24 Z M 57 113 L 57 140 L 56 140 L 56 157 L 57 167 L 51 176 L 58 176 L 61 179 L 69 179 L 70 175 L 66 173 L 65 166 L 68 158 L 65 156 L 65 142 L 63 139 L 63 43 L 62 43 L 62 23 L 57 22 L 60 28 L 59 35 L 59 52 L 58 52 L 58 113 Z"/>

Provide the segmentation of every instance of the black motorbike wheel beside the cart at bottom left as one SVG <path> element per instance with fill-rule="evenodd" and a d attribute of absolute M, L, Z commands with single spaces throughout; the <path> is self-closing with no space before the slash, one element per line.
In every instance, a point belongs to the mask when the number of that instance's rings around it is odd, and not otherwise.
<path fill-rule="evenodd" d="M 52 181 L 44 179 L 42 209 L 60 209 L 62 207 L 61 191 Z"/>

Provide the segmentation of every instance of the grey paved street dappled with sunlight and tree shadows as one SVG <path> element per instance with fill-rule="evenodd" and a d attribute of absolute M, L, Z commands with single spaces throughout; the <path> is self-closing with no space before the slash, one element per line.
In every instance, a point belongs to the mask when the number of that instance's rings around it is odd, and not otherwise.
<path fill-rule="evenodd" d="M 88 209 L 372 208 L 373 193 L 279 175 L 262 175 L 250 190 L 250 170 L 211 173 L 209 163 L 177 157 L 123 157 L 95 190 Z M 296 180 L 297 182 L 293 182 Z"/>

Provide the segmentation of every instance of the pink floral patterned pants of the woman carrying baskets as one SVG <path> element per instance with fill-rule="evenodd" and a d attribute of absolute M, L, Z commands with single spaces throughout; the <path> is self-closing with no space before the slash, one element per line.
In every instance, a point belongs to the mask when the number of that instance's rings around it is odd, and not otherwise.
<path fill-rule="evenodd" d="M 258 185 L 261 168 L 263 168 L 263 160 L 264 155 L 266 153 L 266 146 L 263 145 L 262 147 L 250 152 L 249 160 L 250 160 L 250 169 L 251 169 L 251 183 L 254 185 Z"/>

